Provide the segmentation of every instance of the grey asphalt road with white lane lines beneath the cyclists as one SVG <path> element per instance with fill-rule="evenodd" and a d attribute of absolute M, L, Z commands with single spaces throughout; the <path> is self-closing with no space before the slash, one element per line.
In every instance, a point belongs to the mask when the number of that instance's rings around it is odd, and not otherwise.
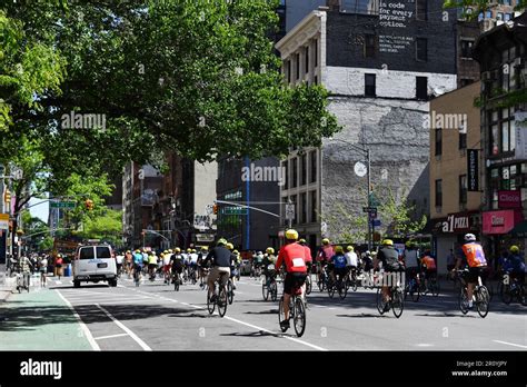
<path fill-rule="evenodd" d="M 41 304 L 39 314 L 54 312 L 62 320 L 73 315 L 69 324 L 78 326 L 78 336 L 96 350 L 527 349 L 526 307 L 494 299 L 486 318 L 476 311 L 464 316 L 454 292 L 421 297 L 418 302 L 407 300 L 397 319 L 391 312 L 378 314 L 375 290 L 350 291 L 340 300 L 315 288 L 308 296 L 307 328 L 301 338 L 292 328 L 280 333 L 278 302 L 265 301 L 259 280 L 249 277 L 238 282 L 235 302 L 223 318 L 209 316 L 206 291 L 198 285 L 183 285 L 175 291 L 162 279 L 136 287 L 123 278 L 117 288 L 83 284 L 76 289 L 69 278 L 62 278 L 60 282 L 50 279 L 48 288 L 11 296 L 8 304 L 20 304 L 9 309 L 9 321 L 17 320 L 23 302 L 37 295 L 53 296 L 57 302 L 50 309 L 46 308 L 52 300 Z M 0 336 L 9 321 L 0 324 Z M 24 324 L 30 328 L 39 322 L 28 319 Z M 76 349 L 74 343 L 70 349 Z"/>

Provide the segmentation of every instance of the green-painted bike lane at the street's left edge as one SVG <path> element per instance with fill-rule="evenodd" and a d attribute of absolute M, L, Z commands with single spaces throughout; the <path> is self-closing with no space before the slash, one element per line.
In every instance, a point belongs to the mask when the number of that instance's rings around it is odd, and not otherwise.
<path fill-rule="evenodd" d="M 12 289 L 12 288 L 11 288 Z M 0 290 L 0 295 L 6 292 Z M 92 350 L 56 290 L 31 288 L 0 304 L 0 350 Z"/>

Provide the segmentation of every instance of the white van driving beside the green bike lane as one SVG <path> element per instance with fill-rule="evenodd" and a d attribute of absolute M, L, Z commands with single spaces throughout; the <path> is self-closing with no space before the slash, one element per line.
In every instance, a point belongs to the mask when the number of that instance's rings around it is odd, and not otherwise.
<path fill-rule="evenodd" d="M 80 282 L 108 281 L 117 286 L 117 264 L 108 245 L 84 245 L 77 248 L 73 260 L 73 286 Z"/>

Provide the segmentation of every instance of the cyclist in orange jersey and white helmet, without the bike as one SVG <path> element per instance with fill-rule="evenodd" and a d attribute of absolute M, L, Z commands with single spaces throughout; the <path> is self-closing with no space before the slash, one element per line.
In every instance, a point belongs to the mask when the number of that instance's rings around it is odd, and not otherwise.
<path fill-rule="evenodd" d="M 455 270 L 460 266 L 466 267 L 468 265 L 467 281 L 467 296 L 468 296 L 468 308 L 473 308 L 473 295 L 474 288 L 478 282 L 478 277 L 485 280 L 487 272 L 487 260 L 485 259 L 485 251 L 480 244 L 476 241 L 474 234 L 465 235 L 465 244 L 461 246 L 458 260 L 456 262 Z"/>

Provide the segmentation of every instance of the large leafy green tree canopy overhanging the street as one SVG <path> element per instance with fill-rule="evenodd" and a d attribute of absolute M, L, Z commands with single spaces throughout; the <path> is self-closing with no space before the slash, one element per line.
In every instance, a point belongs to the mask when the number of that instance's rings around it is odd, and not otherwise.
<path fill-rule="evenodd" d="M 205 161 L 318 146 L 338 126 L 326 110 L 324 88 L 285 87 L 268 38 L 277 26 L 277 4 L 71 0 L 2 6 L 67 63 L 60 92 L 40 98 L 39 111 L 20 107 L 14 121 L 31 119 L 58 179 L 64 170 L 97 176 L 102 166 L 120 172 L 125 161 L 146 162 L 163 150 Z M 107 128 L 67 129 L 62 117 L 71 112 L 103 115 Z"/>

